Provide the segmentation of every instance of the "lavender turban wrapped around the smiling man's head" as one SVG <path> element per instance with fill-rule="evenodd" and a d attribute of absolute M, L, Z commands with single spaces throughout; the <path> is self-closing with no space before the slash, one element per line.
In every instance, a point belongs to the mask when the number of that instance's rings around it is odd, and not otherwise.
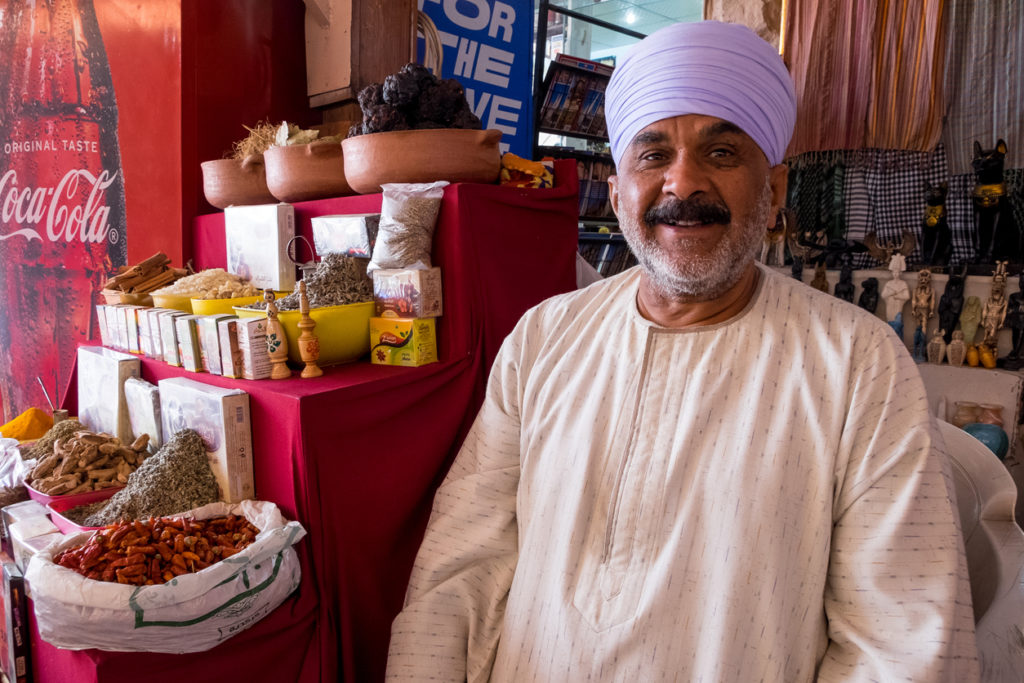
<path fill-rule="evenodd" d="M 615 67 L 604 114 L 615 165 L 655 121 L 701 114 L 738 126 L 774 166 L 793 136 L 797 95 L 778 52 L 746 27 L 674 24 L 634 45 Z"/>

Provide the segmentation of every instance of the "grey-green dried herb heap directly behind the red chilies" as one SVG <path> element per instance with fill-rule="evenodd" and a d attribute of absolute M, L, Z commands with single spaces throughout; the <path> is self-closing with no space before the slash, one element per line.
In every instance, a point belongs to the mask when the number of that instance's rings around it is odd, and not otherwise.
<path fill-rule="evenodd" d="M 65 516 L 83 526 L 121 520 L 164 517 L 219 500 L 217 480 L 206 458 L 203 438 L 183 429 L 128 477 L 124 488 L 102 505 L 73 508 Z M 82 510 L 82 508 L 89 508 Z"/>

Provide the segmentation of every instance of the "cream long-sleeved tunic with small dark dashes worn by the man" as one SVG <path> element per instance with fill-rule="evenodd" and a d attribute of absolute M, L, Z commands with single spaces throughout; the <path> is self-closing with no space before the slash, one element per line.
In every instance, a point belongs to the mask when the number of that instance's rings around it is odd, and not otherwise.
<path fill-rule="evenodd" d="M 645 321 L 635 268 L 524 315 L 434 500 L 389 680 L 977 679 L 912 360 L 762 273 L 714 327 Z"/>

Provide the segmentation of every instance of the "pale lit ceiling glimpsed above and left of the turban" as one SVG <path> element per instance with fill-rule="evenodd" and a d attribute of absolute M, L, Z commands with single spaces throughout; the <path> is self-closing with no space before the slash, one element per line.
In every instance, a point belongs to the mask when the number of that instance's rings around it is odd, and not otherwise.
<path fill-rule="evenodd" d="M 676 22 L 699 22 L 703 0 L 552 0 L 551 4 L 644 35 Z M 630 36 L 594 27 L 591 49 L 611 50 L 636 42 Z"/>

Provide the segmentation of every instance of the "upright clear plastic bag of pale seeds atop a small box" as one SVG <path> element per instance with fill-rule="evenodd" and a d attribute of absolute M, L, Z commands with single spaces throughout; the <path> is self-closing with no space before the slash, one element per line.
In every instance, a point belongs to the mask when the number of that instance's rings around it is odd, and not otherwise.
<path fill-rule="evenodd" d="M 447 180 L 389 182 L 381 185 L 381 219 L 367 272 L 430 267 L 434 224 Z"/>

